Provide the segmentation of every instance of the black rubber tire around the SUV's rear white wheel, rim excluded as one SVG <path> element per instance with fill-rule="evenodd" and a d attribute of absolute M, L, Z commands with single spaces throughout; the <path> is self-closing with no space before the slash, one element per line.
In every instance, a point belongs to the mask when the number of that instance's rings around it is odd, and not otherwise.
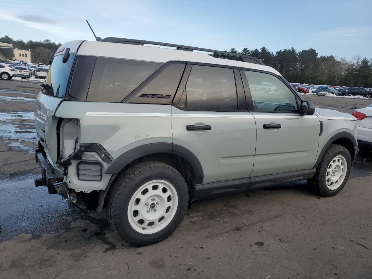
<path fill-rule="evenodd" d="M 128 219 L 128 206 L 137 189 L 151 180 L 165 180 L 175 188 L 178 204 L 174 217 L 161 231 L 141 234 L 134 230 Z M 187 185 L 181 174 L 173 167 L 160 162 L 144 162 L 129 167 L 116 177 L 107 200 L 108 221 L 119 236 L 136 246 L 157 243 L 169 237 L 185 216 L 189 201 Z M 144 200 L 145 202 L 145 200 Z"/>

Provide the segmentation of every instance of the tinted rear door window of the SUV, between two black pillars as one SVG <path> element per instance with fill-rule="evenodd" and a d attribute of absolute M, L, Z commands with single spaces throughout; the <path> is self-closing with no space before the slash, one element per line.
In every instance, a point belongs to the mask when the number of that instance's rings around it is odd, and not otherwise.
<path fill-rule="evenodd" d="M 237 110 L 233 70 L 193 65 L 186 83 L 186 107 L 195 110 Z"/>

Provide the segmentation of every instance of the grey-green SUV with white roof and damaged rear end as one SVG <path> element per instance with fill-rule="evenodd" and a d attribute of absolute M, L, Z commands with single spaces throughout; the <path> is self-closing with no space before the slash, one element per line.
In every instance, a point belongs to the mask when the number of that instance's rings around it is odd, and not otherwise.
<path fill-rule="evenodd" d="M 275 92 L 256 90 L 267 85 Z M 304 179 L 318 195 L 336 195 L 357 151 L 355 117 L 315 110 L 255 57 L 72 41 L 55 53 L 42 87 L 35 186 L 70 205 L 105 208 L 113 230 L 135 245 L 168 237 L 194 199 Z"/>

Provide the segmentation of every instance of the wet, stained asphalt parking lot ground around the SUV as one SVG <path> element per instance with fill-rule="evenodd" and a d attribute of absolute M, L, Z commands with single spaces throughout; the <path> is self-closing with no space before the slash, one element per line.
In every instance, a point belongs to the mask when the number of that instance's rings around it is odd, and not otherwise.
<path fill-rule="evenodd" d="M 0 80 L 0 278 L 372 278 L 372 154 L 331 198 L 302 181 L 202 199 L 169 238 L 131 247 L 105 213 L 34 187 L 40 83 Z M 301 96 L 347 113 L 372 103 Z"/>

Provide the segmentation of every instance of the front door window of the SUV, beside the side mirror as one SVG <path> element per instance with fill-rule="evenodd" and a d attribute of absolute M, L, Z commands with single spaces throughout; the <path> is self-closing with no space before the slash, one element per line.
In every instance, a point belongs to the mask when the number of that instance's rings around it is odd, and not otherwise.
<path fill-rule="evenodd" d="M 296 111 L 294 93 L 277 77 L 271 74 L 245 71 L 256 111 Z M 273 84 L 272 88 L 264 83 Z"/>

